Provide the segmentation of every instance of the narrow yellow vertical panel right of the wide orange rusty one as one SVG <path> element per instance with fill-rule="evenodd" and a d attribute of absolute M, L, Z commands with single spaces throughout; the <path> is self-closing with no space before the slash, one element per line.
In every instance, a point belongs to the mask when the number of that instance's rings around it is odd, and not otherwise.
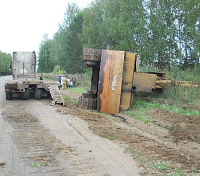
<path fill-rule="evenodd" d="M 136 54 L 126 52 L 123 69 L 122 95 L 120 110 L 127 110 L 132 102 L 133 72 L 135 70 Z"/>

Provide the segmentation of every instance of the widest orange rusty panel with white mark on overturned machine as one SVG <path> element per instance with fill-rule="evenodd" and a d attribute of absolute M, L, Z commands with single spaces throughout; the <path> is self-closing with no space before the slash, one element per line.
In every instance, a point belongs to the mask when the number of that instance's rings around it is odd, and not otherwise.
<path fill-rule="evenodd" d="M 97 111 L 117 114 L 120 109 L 124 51 L 102 50 Z"/>

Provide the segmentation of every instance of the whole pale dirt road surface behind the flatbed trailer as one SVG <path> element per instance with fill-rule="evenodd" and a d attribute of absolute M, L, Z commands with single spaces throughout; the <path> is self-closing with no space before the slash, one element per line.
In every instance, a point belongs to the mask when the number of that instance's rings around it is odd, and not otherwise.
<path fill-rule="evenodd" d="M 52 107 L 51 100 L 6 101 L 3 85 L 0 175 L 135 176 L 143 172 L 131 155 L 124 153 L 124 142 L 93 133 L 84 120 L 91 117 L 88 111 L 73 104 Z M 76 110 L 80 110 L 77 115 Z M 94 121 L 99 118 L 96 113 L 92 116 Z"/>

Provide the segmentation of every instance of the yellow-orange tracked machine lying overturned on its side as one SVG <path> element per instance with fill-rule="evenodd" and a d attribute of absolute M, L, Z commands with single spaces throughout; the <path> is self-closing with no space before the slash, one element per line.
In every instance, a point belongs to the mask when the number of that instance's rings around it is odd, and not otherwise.
<path fill-rule="evenodd" d="M 164 73 L 139 73 L 139 55 L 126 51 L 84 48 L 83 59 L 92 67 L 91 89 L 79 98 L 82 108 L 117 114 L 133 102 L 133 92 L 162 91 Z"/>

